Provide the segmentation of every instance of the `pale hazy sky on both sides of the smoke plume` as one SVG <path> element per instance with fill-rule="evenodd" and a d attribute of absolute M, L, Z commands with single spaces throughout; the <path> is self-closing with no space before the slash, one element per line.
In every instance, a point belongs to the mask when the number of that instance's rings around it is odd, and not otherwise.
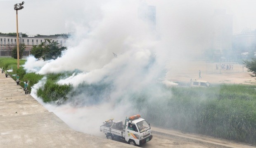
<path fill-rule="evenodd" d="M 100 20 L 102 5 L 110 11 L 115 7 L 105 5 L 115 0 L 24 0 L 24 9 L 18 11 L 19 32 L 28 35 L 53 35 L 76 30 L 74 25 L 93 25 Z M 120 2 L 121 0 L 116 0 Z M 131 0 L 132 1 L 132 0 Z M 139 0 L 137 0 L 139 1 Z M 226 9 L 233 15 L 233 34 L 244 28 L 256 28 L 256 0 L 145 0 L 156 6 L 158 29 L 166 23 L 188 24 L 211 16 L 214 9 Z M 0 0 L 0 32 L 16 32 L 14 4 L 22 0 Z M 106 9 L 106 8 L 104 8 Z M 118 12 L 116 12 L 118 13 Z M 180 19 L 184 18 L 184 19 Z M 194 19 L 194 20 L 193 20 Z M 200 21 L 203 22 L 203 19 Z"/>

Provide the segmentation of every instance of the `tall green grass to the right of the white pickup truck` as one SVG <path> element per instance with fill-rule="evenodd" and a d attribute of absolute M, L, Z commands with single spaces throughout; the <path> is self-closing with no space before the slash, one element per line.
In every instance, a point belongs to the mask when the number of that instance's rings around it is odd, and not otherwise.
<path fill-rule="evenodd" d="M 256 86 L 171 88 L 172 96 L 136 97 L 137 109 L 155 126 L 256 144 Z M 150 96 L 146 96 L 149 98 Z"/>

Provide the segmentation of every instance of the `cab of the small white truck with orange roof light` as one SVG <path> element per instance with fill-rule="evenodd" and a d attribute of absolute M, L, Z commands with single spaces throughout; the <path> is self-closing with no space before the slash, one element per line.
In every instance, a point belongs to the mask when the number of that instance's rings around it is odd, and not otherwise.
<path fill-rule="evenodd" d="M 152 130 L 145 119 L 140 115 L 126 119 L 125 140 L 131 145 L 141 145 L 152 139 Z"/>

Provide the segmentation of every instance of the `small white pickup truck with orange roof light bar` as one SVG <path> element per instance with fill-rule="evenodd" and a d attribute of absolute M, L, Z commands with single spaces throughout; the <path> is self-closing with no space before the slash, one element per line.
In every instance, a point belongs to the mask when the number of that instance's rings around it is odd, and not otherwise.
<path fill-rule="evenodd" d="M 124 139 L 128 144 L 141 145 L 152 139 L 152 130 L 140 115 L 130 116 L 123 121 L 110 119 L 100 126 L 100 132 L 106 134 L 107 139 Z"/>

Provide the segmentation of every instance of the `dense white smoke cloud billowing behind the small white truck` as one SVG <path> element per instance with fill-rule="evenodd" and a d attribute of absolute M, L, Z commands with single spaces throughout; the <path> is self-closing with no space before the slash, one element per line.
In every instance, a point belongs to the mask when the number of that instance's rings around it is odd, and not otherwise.
<path fill-rule="evenodd" d="M 24 65 L 28 72 L 39 74 L 78 69 L 81 72 L 58 81 L 60 84 L 72 83 L 75 88 L 83 81 L 111 84 L 111 92 L 103 93 L 100 103 L 92 106 L 86 104 L 90 97 L 85 94 L 74 96 L 60 106 L 45 104 L 36 97 L 36 90 L 45 78 L 33 86 L 31 95 L 73 129 L 100 135 L 99 125 L 104 120 L 124 121 L 126 116 L 137 114 L 130 102 L 131 93 L 155 83 L 164 68 L 161 65 L 164 60 L 156 50 L 159 41 L 147 23 L 137 17 L 138 4 L 137 1 L 108 1 L 96 5 L 95 9 L 100 11 L 97 18 L 76 25 L 76 36 L 67 42 L 68 49 L 61 58 L 44 62 L 29 57 Z"/>

